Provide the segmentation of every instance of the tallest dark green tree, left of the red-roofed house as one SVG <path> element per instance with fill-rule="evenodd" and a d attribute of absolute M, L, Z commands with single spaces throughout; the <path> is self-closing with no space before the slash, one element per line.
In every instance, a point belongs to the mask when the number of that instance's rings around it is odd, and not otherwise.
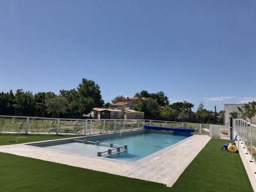
<path fill-rule="evenodd" d="M 95 107 L 102 107 L 104 101 L 100 94 L 100 86 L 95 84 L 94 81 L 83 78 L 82 83 L 79 83 L 77 91 L 84 98 L 91 97 Z"/>

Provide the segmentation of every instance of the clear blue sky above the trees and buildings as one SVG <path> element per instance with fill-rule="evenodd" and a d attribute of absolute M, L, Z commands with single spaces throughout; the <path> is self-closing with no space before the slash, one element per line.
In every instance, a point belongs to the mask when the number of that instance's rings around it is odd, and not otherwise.
<path fill-rule="evenodd" d="M 256 1 L 0 1 L 0 91 L 163 91 L 207 109 L 256 99 Z"/>

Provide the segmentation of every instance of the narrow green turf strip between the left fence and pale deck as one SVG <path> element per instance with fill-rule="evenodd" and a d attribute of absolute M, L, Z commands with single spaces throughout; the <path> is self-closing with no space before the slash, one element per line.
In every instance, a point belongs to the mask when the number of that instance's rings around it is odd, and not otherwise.
<path fill-rule="evenodd" d="M 0 145 L 11 145 L 17 143 L 44 141 L 52 139 L 64 139 L 69 137 L 77 137 L 77 135 L 0 134 Z"/>

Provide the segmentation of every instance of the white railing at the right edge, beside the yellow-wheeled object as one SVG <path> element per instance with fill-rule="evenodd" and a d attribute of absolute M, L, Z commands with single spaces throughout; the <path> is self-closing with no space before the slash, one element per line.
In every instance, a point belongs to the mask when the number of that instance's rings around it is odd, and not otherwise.
<path fill-rule="evenodd" d="M 238 134 L 251 155 L 251 161 L 256 163 L 256 125 L 244 119 L 233 119 L 234 134 Z"/>

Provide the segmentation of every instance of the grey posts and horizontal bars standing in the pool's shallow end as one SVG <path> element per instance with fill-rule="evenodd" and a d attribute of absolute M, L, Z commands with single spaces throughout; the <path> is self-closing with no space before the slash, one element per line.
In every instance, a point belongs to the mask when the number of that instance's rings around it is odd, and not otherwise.
<path fill-rule="evenodd" d="M 103 143 L 100 141 L 87 141 L 86 139 L 83 140 L 79 140 L 79 139 L 73 139 L 73 141 L 75 142 L 82 142 L 84 144 L 92 144 L 92 145 L 97 145 L 97 146 L 106 146 L 106 147 L 110 147 L 110 149 L 106 150 L 106 151 L 98 151 L 97 156 L 98 157 L 103 157 L 103 156 L 108 156 L 111 154 L 116 154 L 116 153 L 120 153 L 121 151 L 127 150 L 128 146 L 127 145 L 117 145 L 114 143 Z"/>

